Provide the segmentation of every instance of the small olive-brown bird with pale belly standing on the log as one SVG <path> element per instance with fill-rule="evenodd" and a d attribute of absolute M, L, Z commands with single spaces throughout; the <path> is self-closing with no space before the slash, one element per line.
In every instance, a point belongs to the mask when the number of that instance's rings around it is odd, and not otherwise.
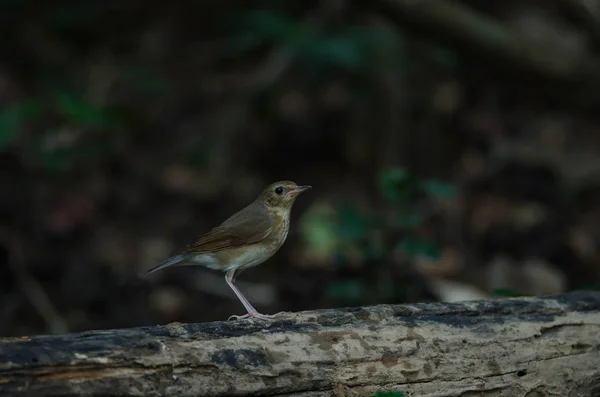
<path fill-rule="evenodd" d="M 170 266 L 201 265 L 225 271 L 225 281 L 242 302 L 248 314 L 229 317 L 273 318 L 261 314 L 234 284 L 238 274 L 269 259 L 285 242 L 290 228 L 290 212 L 296 197 L 311 186 L 291 181 L 273 183 L 248 206 L 219 226 L 200 236 L 193 244 L 176 252 L 146 275 Z"/>

